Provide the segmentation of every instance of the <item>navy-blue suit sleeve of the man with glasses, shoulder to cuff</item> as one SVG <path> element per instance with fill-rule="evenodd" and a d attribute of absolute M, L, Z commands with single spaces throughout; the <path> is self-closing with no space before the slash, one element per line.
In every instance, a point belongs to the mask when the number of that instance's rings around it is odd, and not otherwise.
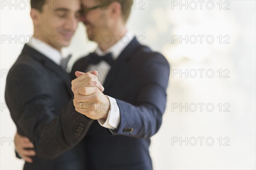
<path fill-rule="evenodd" d="M 169 81 L 170 66 L 165 57 L 151 54 L 144 62 L 145 74 L 138 78 L 140 89 L 133 104 L 116 99 L 121 120 L 114 135 L 150 138 L 160 128 L 166 108 L 166 88 Z M 142 62 L 143 63 L 143 62 Z"/>

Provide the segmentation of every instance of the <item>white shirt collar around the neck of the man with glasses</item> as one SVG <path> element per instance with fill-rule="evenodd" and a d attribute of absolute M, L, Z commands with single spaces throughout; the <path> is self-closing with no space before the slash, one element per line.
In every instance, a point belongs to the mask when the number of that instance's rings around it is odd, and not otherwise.
<path fill-rule="evenodd" d="M 102 51 L 99 46 L 96 48 L 95 53 L 99 56 L 104 56 L 108 53 L 112 53 L 113 59 L 117 59 L 121 52 L 127 47 L 127 45 L 133 40 L 134 34 L 132 34 L 130 31 L 127 31 L 127 33 L 122 36 L 122 38 L 116 42 L 111 48 L 108 48 L 106 51 Z"/>

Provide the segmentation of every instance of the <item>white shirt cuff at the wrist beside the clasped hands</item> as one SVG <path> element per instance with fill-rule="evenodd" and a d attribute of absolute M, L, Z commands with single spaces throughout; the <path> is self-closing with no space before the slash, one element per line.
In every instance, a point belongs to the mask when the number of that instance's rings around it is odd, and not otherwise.
<path fill-rule="evenodd" d="M 107 95 L 106 95 L 107 96 Z M 120 110 L 117 105 L 116 99 L 113 97 L 107 96 L 110 101 L 110 110 L 108 112 L 108 118 L 105 119 L 98 119 L 99 125 L 106 127 L 111 130 L 117 129 L 120 123 Z"/>

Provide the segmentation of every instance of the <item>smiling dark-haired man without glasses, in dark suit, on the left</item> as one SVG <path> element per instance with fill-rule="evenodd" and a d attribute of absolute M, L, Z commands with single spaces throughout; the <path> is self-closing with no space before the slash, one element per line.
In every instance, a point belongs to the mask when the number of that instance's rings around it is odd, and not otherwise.
<path fill-rule="evenodd" d="M 39 2 L 44 6 L 37 7 Z M 17 150 L 26 160 L 24 169 L 84 169 L 80 141 L 92 120 L 75 111 L 67 60 L 61 55 L 78 26 L 81 1 L 32 0 L 31 5 L 34 34 L 9 71 L 5 98 L 17 133 L 28 137 L 32 144 L 26 139 L 25 147 L 35 151 Z M 96 72 L 87 76 L 83 85 L 98 82 Z M 100 83 L 93 86 L 103 90 Z"/>

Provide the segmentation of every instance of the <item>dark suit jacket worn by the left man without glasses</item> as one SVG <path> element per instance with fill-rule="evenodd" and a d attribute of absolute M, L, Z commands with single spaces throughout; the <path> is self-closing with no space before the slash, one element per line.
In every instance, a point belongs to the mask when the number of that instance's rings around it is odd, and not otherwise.
<path fill-rule="evenodd" d="M 24 169 L 84 169 L 80 141 L 93 120 L 75 111 L 72 96 L 70 75 L 25 45 L 9 71 L 5 92 L 17 132 L 35 145 L 37 155 Z"/>

